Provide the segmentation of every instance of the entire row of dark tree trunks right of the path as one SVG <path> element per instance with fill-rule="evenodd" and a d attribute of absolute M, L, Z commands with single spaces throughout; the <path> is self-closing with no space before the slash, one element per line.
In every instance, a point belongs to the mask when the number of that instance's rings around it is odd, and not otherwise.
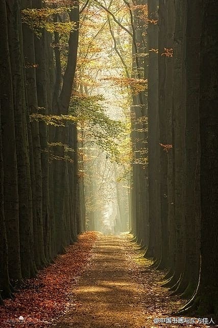
<path fill-rule="evenodd" d="M 148 1 L 146 256 L 168 270 L 164 286 L 190 299 L 181 313 L 201 315 L 218 309 L 217 11 L 216 1 Z"/>

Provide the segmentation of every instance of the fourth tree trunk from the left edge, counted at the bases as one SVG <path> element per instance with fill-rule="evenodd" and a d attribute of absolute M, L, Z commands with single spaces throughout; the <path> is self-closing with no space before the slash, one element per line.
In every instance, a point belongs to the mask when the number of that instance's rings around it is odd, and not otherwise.
<path fill-rule="evenodd" d="M 22 9 L 32 8 L 32 2 L 22 0 Z M 28 100 L 28 110 L 30 114 L 38 113 L 36 67 L 38 65 L 35 56 L 35 44 L 33 30 L 27 24 L 22 25 L 23 32 L 23 56 L 26 67 L 26 92 Z M 39 67 L 41 70 L 41 67 Z M 30 124 L 29 142 L 30 162 L 31 162 L 31 186 L 33 199 L 33 230 L 34 230 L 34 255 L 37 268 L 40 269 L 45 264 L 43 224 L 42 224 L 42 166 L 41 147 L 39 138 L 39 123 L 33 121 Z"/>

